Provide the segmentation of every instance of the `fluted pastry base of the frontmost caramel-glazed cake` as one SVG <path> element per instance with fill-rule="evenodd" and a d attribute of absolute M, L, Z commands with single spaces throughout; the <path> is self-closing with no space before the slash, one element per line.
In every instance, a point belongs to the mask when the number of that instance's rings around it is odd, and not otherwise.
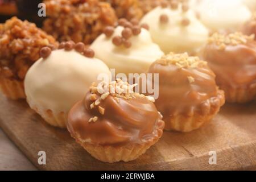
<path fill-rule="evenodd" d="M 163 121 L 161 122 L 163 123 Z M 128 162 L 137 159 L 140 155 L 144 154 L 148 148 L 158 142 L 159 138 L 163 135 L 163 127 L 164 123 L 156 129 L 156 135 L 151 140 L 147 140 L 142 144 L 129 143 L 126 146 L 94 145 L 92 143 L 83 142 L 78 136 L 72 137 L 75 138 L 76 142 L 80 143 L 90 155 L 102 162 Z"/>

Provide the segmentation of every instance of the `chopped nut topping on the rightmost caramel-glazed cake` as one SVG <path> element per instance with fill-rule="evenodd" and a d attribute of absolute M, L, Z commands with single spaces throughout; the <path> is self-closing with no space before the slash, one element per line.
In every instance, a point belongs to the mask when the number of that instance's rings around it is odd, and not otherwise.
<path fill-rule="evenodd" d="M 241 32 L 234 32 L 229 35 L 214 33 L 209 39 L 208 43 L 214 43 L 219 49 L 225 49 L 226 46 L 237 46 L 238 44 L 246 44 L 248 41 L 254 40 L 254 34 L 247 36 Z"/>

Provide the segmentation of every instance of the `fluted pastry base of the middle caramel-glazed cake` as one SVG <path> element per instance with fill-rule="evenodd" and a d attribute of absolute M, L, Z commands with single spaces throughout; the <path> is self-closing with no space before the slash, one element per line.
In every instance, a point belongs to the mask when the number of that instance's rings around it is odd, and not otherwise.
<path fill-rule="evenodd" d="M 218 90 L 218 96 L 214 99 L 209 99 L 210 107 L 207 112 L 193 113 L 192 115 L 177 114 L 164 118 L 166 127 L 164 130 L 175 130 L 181 132 L 189 132 L 199 129 L 205 123 L 209 122 L 220 110 L 220 107 L 225 103 L 225 96 L 222 90 Z"/>

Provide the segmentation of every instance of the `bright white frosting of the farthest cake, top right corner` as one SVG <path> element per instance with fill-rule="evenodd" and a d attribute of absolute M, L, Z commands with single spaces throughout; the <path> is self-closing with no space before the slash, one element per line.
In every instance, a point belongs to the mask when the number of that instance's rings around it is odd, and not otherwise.
<path fill-rule="evenodd" d="M 204 0 L 196 10 L 205 26 L 213 31 L 236 31 L 251 17 L 250 10 L 241 0 Z"/>

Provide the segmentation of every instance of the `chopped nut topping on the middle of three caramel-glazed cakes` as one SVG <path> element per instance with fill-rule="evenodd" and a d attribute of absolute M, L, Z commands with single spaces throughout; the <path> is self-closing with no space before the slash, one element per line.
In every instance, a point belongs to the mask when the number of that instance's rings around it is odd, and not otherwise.
<path fill-rule="evenodd" d="M 173 52 L 164 55 L 157 60 L 161 65 L 176 65 L 179 68 L 197 68 L 199 65 L 206 65 L 207 62 L 200 60 L 199 57 L 188 56 L 188 53 L 175 54 Z"/>

